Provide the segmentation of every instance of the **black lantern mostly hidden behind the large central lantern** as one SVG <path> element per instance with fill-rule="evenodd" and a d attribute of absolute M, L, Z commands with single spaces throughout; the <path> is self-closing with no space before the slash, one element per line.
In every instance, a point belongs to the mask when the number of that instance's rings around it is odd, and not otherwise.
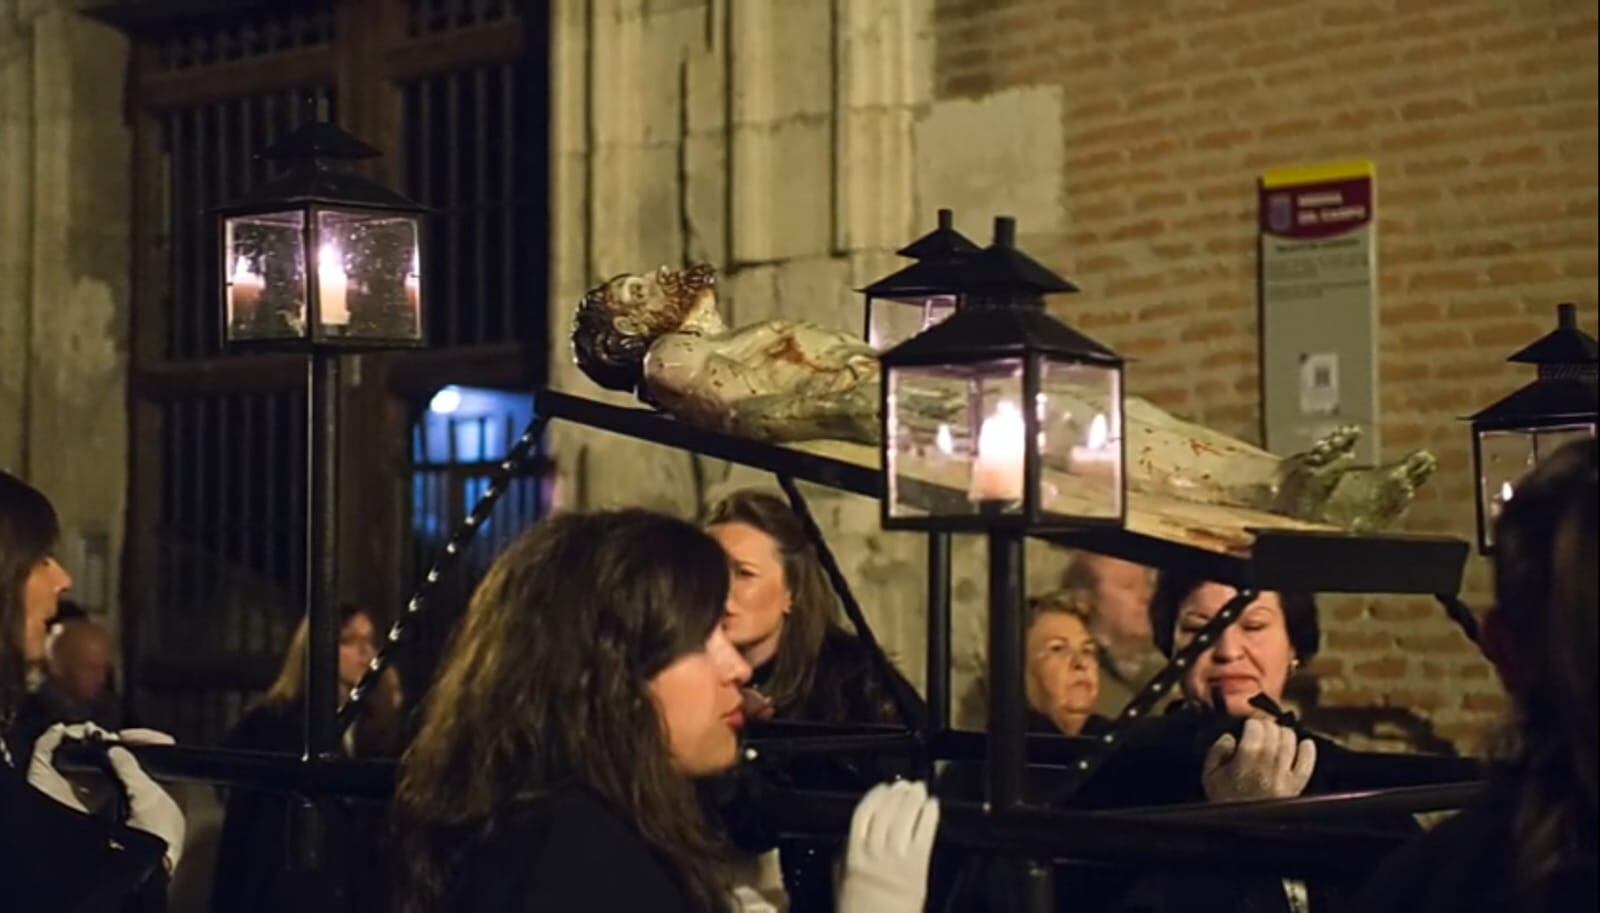
<path fill-rule="evenodd" d="M 965 261 L 981 248 L 939 209 L 939 227 L 894 251 L 917 262 L 861 289 L 867 296 L 864 336 L 885 352 L 949 318 L 962 305 Z"/>

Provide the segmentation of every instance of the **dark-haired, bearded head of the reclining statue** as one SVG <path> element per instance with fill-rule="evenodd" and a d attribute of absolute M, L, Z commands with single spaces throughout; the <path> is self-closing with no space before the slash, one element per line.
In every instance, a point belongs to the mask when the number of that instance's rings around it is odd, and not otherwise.
<path fill-rule="evenodd" d="M 718 333 L 717 272 L 709 264 L 622 273 L 584 293 L 573 321 L 573 355 L 611 390 L 638 387 L 650 345 L 667 333 Z"/>

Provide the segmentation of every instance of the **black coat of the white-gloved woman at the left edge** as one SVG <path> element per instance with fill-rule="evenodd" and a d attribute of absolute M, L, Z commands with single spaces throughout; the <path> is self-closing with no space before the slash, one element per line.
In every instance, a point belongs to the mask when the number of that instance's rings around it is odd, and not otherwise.
<path fill-rule="evenodd" d="M 6 913 L 162 913 L 166 844 L 75 812 L 0 763 L 0 908 Z"/>

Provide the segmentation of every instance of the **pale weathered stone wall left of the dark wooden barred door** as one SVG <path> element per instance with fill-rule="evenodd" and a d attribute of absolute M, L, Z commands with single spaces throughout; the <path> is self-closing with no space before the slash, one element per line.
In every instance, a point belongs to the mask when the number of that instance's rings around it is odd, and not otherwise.
<path fill-rule="evenodd" d="M 126 42 L 0 0 L 0 468 L 50 494 L 78 595 L 115 624 L 128 483 Z"/>

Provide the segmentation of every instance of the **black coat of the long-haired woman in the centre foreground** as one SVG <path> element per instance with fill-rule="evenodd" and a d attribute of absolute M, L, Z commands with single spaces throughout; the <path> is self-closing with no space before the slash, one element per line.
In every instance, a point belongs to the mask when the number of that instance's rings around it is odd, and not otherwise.
<path fill-rule="evenodd" d="M 690 913 L 638 831 L 579 787 L 504 809 L 458 859 L 438 913 Z"/>

